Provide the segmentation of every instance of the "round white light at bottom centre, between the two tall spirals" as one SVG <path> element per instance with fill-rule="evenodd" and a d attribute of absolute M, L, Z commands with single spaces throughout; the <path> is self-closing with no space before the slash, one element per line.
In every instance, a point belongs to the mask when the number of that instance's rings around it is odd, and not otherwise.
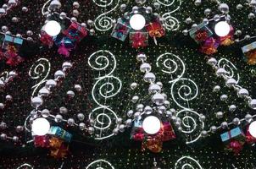
<path fill-rule="evenodd" d="M 158 117 L 146 117 L 142 123 L 142 128 L 147 134 L 156 134 L 161 128 L 161 122 Z"/>

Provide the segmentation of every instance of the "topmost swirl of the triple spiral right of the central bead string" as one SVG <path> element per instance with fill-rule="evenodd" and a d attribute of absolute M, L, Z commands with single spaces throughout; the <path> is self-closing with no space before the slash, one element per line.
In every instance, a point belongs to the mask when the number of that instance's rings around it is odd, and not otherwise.
<path fill-rule="evenodd" d="M 166 52 L 157 58 L 157 67 L 165 74 L 171 74 L 170 83 L 180 79 L 185 73 L 185 64 L 180 57 L 173 53 Z"/>

